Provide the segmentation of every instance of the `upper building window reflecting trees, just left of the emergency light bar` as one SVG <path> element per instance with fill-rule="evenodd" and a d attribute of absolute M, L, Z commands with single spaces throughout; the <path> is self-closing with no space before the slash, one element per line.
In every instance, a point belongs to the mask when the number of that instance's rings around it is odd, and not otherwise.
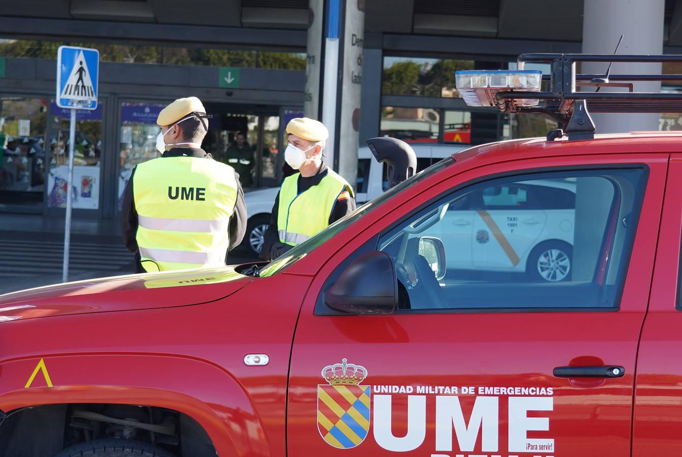
<path fill-rule="evenodd" d="M 455 87 L 455 72 L 473 67 L 473 61 L 384 57 L 381 93 L 460 97 Z"/>

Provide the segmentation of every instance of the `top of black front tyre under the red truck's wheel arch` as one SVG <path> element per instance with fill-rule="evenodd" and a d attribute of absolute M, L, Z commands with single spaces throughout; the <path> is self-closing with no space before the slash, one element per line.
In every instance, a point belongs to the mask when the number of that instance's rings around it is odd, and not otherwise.
<path fill-rule="evenodd" d="M 59 452 L 55 457 L 176 457 L 175 454 L 130 439 L 98 439 L 80 443 Z"/>

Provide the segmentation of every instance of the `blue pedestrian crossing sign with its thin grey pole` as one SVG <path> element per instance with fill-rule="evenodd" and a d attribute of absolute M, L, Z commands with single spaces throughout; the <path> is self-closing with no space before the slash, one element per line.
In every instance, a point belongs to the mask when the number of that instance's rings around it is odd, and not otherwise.
<path fill-rule="evenodd" d="M 71 248 L 71 212 L 73 208 L 74 143 L 76 142 L 76 110 L 96 110 L 100 76 L 100 52 L 96 49 L 59 46 L 57 51 L 57 97 L 59 108 L 70 111 L 69 176 L 66 185 L 66 215 L 64 223 L 64 257 L 61 281 L 69 279 Z"/>

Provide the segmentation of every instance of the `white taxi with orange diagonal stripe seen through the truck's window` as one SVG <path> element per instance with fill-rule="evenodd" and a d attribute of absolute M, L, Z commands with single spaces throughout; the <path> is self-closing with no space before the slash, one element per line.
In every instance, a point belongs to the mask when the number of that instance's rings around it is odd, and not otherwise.
<path fill-rule="evenodd" d="M 443 241 L 448 270 L 521 272 L 531 281 L 567 281 L 575 208 L 575 182 L 509 183 L 450 202 L 443 219 L 424 234 Z"/>

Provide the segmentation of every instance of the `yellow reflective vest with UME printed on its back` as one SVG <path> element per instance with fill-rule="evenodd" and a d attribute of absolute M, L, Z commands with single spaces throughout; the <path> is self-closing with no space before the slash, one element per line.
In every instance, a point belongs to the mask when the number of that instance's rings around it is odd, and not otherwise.
<path fill-rule="evenodd" d="M 225 264 L 237 203 L 231 166 L 202 157 L 158 157 L 136 167 L 133 195 L 145 271 Z"/>

